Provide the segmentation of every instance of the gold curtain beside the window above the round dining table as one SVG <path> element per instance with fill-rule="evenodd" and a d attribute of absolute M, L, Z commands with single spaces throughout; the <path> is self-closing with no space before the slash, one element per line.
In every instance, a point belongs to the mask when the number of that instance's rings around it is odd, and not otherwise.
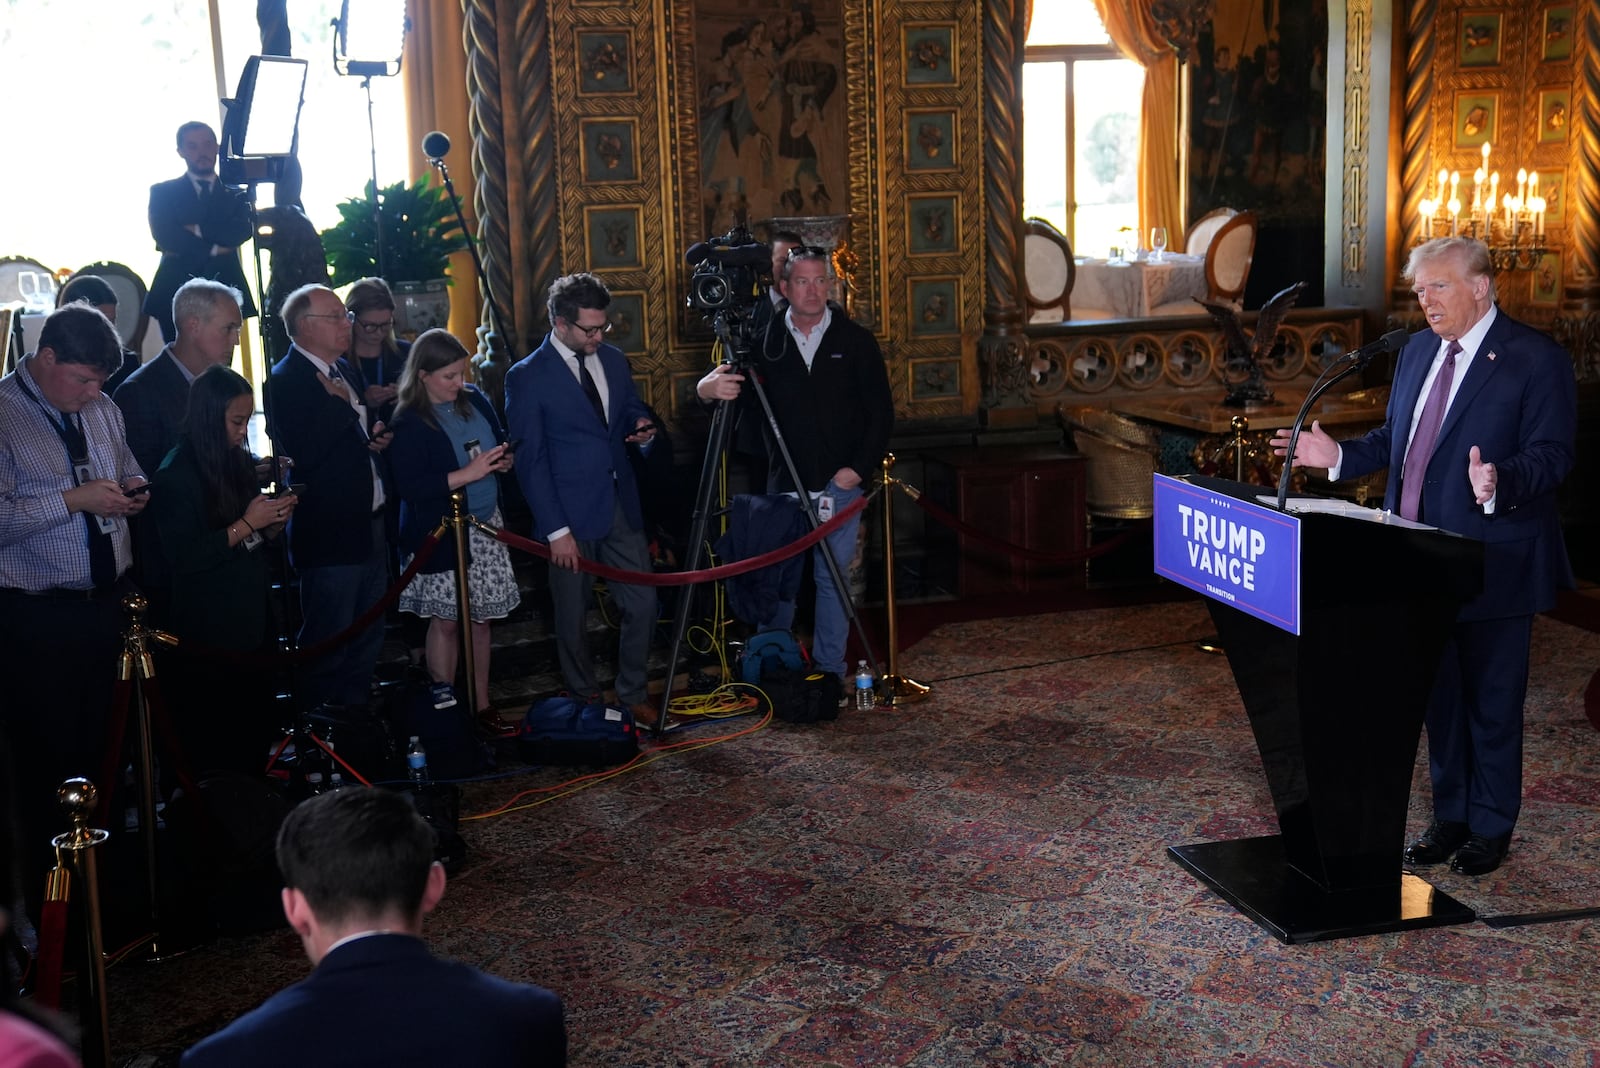
<path fill-rule="evenodd" d="M 1150 18 L 1150 0 L 1094 0 L 1112 42 L 1144 67 L 1139 109 L 1139 233 L 1182 233 L 1178 185 L 1178 56 Z M 1144 240 L 1141 240 L 1141 245 Z"/>

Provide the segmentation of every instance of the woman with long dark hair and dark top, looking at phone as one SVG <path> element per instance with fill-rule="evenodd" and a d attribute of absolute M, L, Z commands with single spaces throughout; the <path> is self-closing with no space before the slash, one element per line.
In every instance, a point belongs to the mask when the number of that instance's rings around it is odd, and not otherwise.
<path fill-rule="evenodd" d="M 170 582 L 162 625 L 202 649 L 269 646 L 264 540 L 283 531 L 294 496 L 261 492 L 256 459 L 245 448 L 254 409 L 250 382 L 230 368 L 206 368 L 189 387 L 184 433 L 152 478 L 149 515 Z M 184 654 L 182 644 L 174 656 L 168 692 L 189 755 L 200 769 L 254 764 L 259 753 L 245 740 L 256 740 L 261 726 L 264 673 Z"/>

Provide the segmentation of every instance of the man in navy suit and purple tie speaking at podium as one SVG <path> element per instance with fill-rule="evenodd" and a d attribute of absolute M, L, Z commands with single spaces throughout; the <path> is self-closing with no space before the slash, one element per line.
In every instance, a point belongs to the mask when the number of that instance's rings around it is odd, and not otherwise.
<path fill-rule="evenodd" d="M 1386 508 L 1483 542 L 1483 592 L 1456 617 L 1427 707 L 1434 820 L 1405 851 L 1474 876 L 1506 859 L 1522 806 L 1533 617 L 1574 585 L 1555 502 L 1578 428 L 1571 357 L 1496 307 L 1493 270 L 1472 238 L 1411 249 L 1429 329 L 1400 352 L 1387 420 L 1342 443 L 1314 422 L 1294 452 L 1331 480 L 1387 467 Z"/>

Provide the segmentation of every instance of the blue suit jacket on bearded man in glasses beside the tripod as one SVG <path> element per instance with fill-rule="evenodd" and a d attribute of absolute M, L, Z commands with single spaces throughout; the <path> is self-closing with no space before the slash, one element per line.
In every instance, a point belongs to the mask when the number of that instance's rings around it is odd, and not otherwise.
<path fill-rule="evenodd" d="M 622 350 L 600 345 L 597 355 L 611 393 L 610 425 L 600 425 L 549 337 L 506 373 L 506 433 L 522 443 L 517 480 L 541 539 L 563 526 L 578 540 L 602 539 L 611 532 L 618 500 L 627 521 L 645 528 L 624 438 L 650 411 L 638 400 Z"/>

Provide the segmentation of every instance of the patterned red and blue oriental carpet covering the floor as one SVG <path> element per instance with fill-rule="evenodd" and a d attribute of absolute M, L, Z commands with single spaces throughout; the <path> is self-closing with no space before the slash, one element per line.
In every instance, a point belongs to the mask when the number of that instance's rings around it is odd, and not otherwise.
<path fill-rule="evenodd" d="M 899 662 L 922 705 L 464 822 L 429 938 L 557 990 L 574 1065 L 1600 1065 L 1595 919 L 1290 946 L 1165 855 L 1277 830 L 1210 633 L 1195 601 L 947 624 Z M 1536 622 L 1510 857 L 1426 871 L 1480 916 L 1600 905 L 1597 665 L 1600 635 Z M 117 967 L 115 1060 L 176 1063 L 304 974 L 286 931 Z"/>

